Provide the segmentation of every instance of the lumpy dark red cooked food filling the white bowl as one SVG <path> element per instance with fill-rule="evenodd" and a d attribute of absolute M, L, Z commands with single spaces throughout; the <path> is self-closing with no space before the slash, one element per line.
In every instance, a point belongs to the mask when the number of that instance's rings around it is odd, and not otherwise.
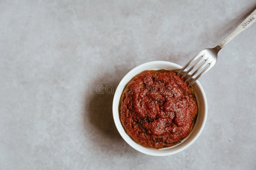
<path fill-rule="evenodd" d="M 149 70 L 135 76 L 121 96 L 121 122 L 140 145 L 160 149 L 181 142 L 197 115 L 194 91 L 180 75 Z"/>

